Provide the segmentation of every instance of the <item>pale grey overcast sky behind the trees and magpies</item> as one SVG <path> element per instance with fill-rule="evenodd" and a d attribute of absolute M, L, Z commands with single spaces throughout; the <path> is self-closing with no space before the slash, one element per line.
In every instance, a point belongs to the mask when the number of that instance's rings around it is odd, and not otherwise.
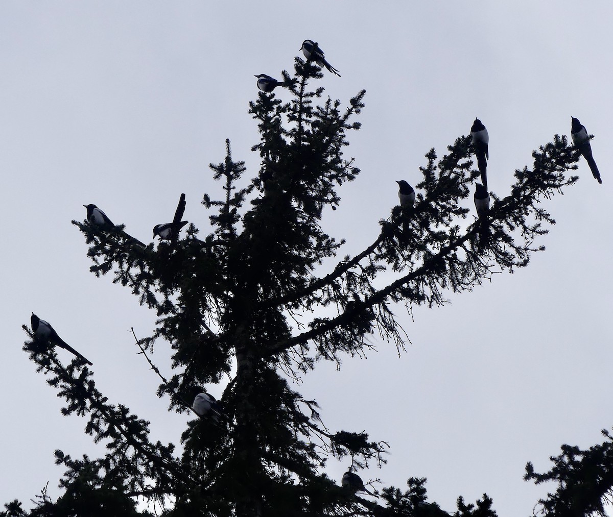
<path fill-rule="evenodd" d="M 185 192 L 185 218 L 209 233 L 200 200 L 221 193 L 208 164 L 223 160 L 225 138 L 249 177 L 257 173 L 253 75 L 292 70 L 308 38 L 342 75 L 317 83 L 327 95 L 346 105 L 367 90 L 362 129 L 345 151 L 362 174 L 326 221 L 348 239 L 341 256 L 374 240 L 397 203 L 394 180 L 417 183 L 428 149 L 442 156 L 476 116 L 490 134 L 489 187 L 501 197 L 533 149 L 570 135 L 571 116 L 595 135 L 603 185 L 582 160 L 579 183 L 547 203 L 558 224 L 528 268 L 442 308 L 417 308 L 414 321 L 398 308 L 407 353 L 380 342 L 340 372 L 321 364 L 300 387 L 330 429 L 389 441 L 387 465 L 360 472 L 364 481 L 402 488 L 423 476 L 447 511 L 459 495 L 473 502 L 487 492 L 501 517 L 531 515 L 554 487 L 523 481 L 525 463 L 546 470 L 562 443 L 589 447 L 613 425 L 612 15 L 609 0 L 2 2 L 0 504 L 17 497 L 29 507 L 47 481 L 59 493 L 55 448 L 104 455 L 83 434 L 85 420 L 61 417 L 62 401 L 21 350 L 32 311 L 93 361 L 110 401 L 151 421 L 152 440 L 178 444 L 187 417 L 154 395 L 158 379 L 129 333 L 150 335 L 155 315 L 112 277 L 89 273 L 70 221 L 95 203 L 149 242 Z M 170 374 L 162 343 L 156 351 Z M 331 459 L 327 472 L 340 480 L 347 466 Z"/>

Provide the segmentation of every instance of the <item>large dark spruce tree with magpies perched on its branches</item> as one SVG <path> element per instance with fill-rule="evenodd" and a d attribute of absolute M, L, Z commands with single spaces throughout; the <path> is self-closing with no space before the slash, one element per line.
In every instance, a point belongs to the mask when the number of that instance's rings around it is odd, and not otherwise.
<path fill-rule="evenodd" d="M 360 172 L 344 151 L 349 132 L 360 128 L 365 91 L 343 106 L 326 99 L 321 86 L 310 88 L 324 77 L 316 64 L 295 58 L 294 70 L 294 77 L 283 72 L 281 93 L 259 92 L 249 105 L 260 135 L 252 149 L 261 158 L 259 171 L 246 175 L 229 141 L 224 161 L 211 164 L 222 195 L 202 198 L 209 235 L 190 224 L 178 240 L 140 246 L 123 227 L 73 221 L 89 246 L 91 271 L 112 275 L 156 311 L 156 328 L 139 345 L 152 364 L 154 343 L 172 348 L 176 373 L 158 371 L 157 395 L 189 420 L 177 436 L 181 447 L 153 441 L 148 422 L 105 398 L 84 363 L 59 363 L 53 347 L 32 339 L 24 325 L 24 349 L 64 398 L 63 413 L 86 417 L 85 432 L 107 452 L 77 460 L 56 451 L 66 467 L 63 495 L 51 500 L 43 492 L 30 512 L 14 501 L 3 515 L 445 513 L 428 504 L 425 480 L 410 473 L 404 490 L 369 485 L 378 497 L 327 477 L 329 458 L 350 459 L 357 474 L 370 462 L 383 463 L 385 437 L 327 428 L 317 402 L 293 381 L 319 361 L 340 364 L 362 355 L 373 334 L 402 351 L 407 336 L 394 312 L 399 303 L 437 306 L 446 292 L 470 291 L 493 271 L 526 266 L 555 223 L 544 202 L 576 181 L 565 173 L 577 168 L 580 155 L 555 135 L 534 151 L 531 168 L 516 170 L 508 195 L 493 195 L 484 222 L 474 214 L 479 172 L 470 137 L 457 138 L 441 158 L 430 149 L 414 205 L 394 206 L 392 183 L 393 208 L 378 235 L 359 254 L 342 256 L 345 241 L 322 225 L 334 217 L 343 184 Z M 289 102 L 281 100 L 287 96 Z M 226 377 L 221 418 L 197 417 L 194 396 Z M 139 500 L 154 505 L 142 510 Z M 495 513 L 484 495 L 476 504 L 460 497 L 455 515 Z"/>

